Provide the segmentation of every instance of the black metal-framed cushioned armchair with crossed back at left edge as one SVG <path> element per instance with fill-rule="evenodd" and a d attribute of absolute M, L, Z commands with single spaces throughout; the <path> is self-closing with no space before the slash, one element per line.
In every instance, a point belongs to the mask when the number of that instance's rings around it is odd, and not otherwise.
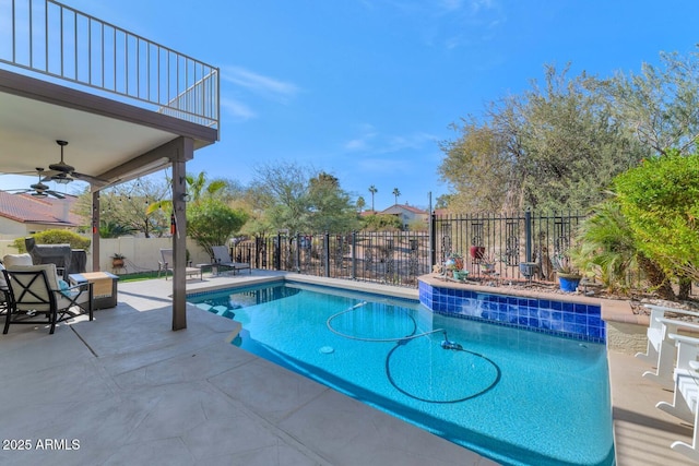
<path fill-rule="evenodd" d="M 11 324 L 50 324 L 54 334 L 56 324 L 79 314 L 92 312 L 92 284 L 69 286 L 59 280 L 56 264 L 15 265 L 2 271 L 9 289 L 9 306 L 3 334 Z M 37 320 L 44 314 L 46 320 Z"/>

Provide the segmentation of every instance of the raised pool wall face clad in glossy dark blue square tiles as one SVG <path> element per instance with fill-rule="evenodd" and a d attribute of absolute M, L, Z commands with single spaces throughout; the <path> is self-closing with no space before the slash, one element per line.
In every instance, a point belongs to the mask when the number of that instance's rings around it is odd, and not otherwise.
<path fill-rule="evenodd" d="M 419 282 L 419 302 L 433 312 L 555 336 L 606 342 L 599 304 L 495 295 Z"/>

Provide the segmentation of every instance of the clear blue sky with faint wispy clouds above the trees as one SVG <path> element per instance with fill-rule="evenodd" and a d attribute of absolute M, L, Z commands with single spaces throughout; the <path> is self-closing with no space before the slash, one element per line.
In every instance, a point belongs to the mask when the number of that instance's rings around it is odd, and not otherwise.
<path fill-rule="evenodd" d="M 541 83 L 545 65 L 638 73 L 661 51 L 694 51 L 699 17 L 691 0 L 63 3 L 221 69 L 221 141 L 188 172 L 245 186 L 261 165 L 292 162 L 334 175 L 367 208 L 375 186 L 379 211 L 395 188 L 424 208 L 447 193 L 452 124 Z"/>

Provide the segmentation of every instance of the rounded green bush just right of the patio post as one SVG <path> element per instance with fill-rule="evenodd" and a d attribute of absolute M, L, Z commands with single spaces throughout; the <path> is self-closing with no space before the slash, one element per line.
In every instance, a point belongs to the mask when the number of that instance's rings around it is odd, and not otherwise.
<path fill-rule="evenodd" d="M 212 258 L 212 247 L 226 244 L 247 222 L 245 212 L 228 207 L 223 201 L 202 198 L 187 208 L 187 235 Z"/>

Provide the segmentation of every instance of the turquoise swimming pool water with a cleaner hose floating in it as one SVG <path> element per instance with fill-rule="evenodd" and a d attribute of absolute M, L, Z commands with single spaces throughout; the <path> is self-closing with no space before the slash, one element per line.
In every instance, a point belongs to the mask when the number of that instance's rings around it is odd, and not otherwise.
<path fill-rule="evenodd" d="M 188 301 L 239 321 L 235 345 L 499 463 L 614 464 L 602 344 L 306 285 Z"/>

